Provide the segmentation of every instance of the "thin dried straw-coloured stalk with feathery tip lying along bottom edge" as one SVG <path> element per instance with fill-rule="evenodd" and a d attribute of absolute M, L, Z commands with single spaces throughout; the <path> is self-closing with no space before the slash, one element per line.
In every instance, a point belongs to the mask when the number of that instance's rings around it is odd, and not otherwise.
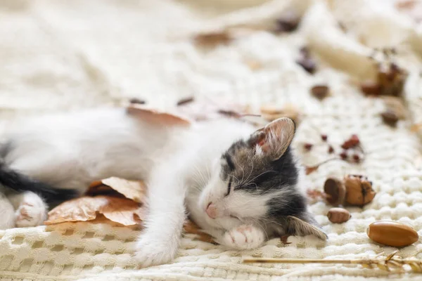
<path fill-rule="evenodd" d="M 406 266 L 411 272 L 422 273 L 422 259 L 401 259 L 395 257 L 398 251 L 393 251 L 384 258 L 377 255 L 372 259 L 264 259 L 247 258 L 243 263 L 330 263 L 330 264 L 359 264 L 364 268 L 379 268 L 392 273 L 404 273 Z M 381 258 L 381 259 L 380 259 Z"/>

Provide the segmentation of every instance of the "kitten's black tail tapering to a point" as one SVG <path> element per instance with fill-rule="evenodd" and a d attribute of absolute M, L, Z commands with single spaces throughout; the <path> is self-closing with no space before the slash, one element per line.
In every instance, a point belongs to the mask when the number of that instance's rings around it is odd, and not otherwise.
<path fill-rule="evenodd" d="M 46 202 L 65 201 L 77 197 L 77 190 L 53 188 L 46 183 L 36 181 L 24 174 L 13 171 L 0 160 L 0 185 L 18 192 L 32 191 Z"/>

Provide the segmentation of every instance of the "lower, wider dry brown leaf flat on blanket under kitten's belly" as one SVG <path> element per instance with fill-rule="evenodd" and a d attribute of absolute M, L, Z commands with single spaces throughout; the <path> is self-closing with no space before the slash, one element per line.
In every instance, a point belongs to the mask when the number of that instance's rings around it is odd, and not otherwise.
<path fill-rule="evenodd" d="M 141 222 L 143 207 L 127 198 L 99 195 L 84 196 L 63 202 L 49 211 L 49 218 L 44 224 L 64 223 L 70 221 L 91 221 L 103 214 L 110 221 L 124 226 L 133 226 Z"/>

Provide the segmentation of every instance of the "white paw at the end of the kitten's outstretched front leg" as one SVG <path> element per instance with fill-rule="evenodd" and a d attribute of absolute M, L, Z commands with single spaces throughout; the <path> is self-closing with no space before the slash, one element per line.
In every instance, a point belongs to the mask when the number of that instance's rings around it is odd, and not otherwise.
<path fill-rule="evenodd" d="M 156 237 L 145 235 L 136 244 L 135 259 L 143 268 L 170 263 L 177 254 L 179 244 L 168 244 Z"/>

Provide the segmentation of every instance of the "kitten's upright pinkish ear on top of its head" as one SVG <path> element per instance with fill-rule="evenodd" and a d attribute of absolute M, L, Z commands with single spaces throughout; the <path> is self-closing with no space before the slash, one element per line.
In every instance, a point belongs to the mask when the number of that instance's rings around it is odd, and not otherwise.
<path fill-rule="evenodd" d="M 257 148 L 257 152 L 262 151 L 264 155 L 276 160 L 286 152 L 294 135 L 295 122 L 290 118 L 280 118 L 252 133 L 248 143 Z"/>

